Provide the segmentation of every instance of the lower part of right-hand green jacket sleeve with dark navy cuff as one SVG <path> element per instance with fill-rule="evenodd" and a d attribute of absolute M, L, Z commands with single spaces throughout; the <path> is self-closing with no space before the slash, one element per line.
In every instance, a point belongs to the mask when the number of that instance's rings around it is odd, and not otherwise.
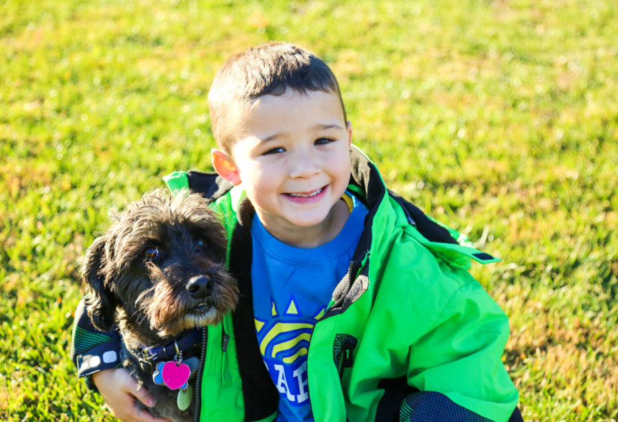
<path fill-rule="evenodd" d="M 461 285 L 410 348 L 408 384 L 420 391 L 404 399 L 400 421 L 509 420 L 518 392 L 501 359 L 508 335 L 505 313 L 481 285 Z"/>

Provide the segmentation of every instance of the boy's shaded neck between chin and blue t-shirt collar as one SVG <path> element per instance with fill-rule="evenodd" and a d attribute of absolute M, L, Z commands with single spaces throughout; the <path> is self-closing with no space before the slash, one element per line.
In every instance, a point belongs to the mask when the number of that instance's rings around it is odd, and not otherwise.
<path fill-rule="evenodd" d="M 300 227 L 273 216 L 263 216 L 258 210 L 256 213 L 266 231 L 277 240 L 286 245 L 308 249 L 325 245 L 336 238 L 345 226 L 347 217 L 350 216 L 350 208 L 343 199 L 340 199 L 336 201 L 322 223 L 310 227 Z"/>

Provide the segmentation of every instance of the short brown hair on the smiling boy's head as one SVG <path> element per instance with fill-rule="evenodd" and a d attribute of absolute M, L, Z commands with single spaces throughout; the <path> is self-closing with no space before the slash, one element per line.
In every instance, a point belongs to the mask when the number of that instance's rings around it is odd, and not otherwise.
<path fill-rule="evenodd" d="M 339 84 L 328 65 L 304 48 L 271 42 L 245 50 L 217 71 L 208 94 L 208 107 L 218 146 L 230 153 L 235 134 L 226 118 L 233 107 L 247 107 L 265 95 L 280 96 L 288 88 L 299 93 L 336 93 L 345 124 L 347 116 Z"/>

